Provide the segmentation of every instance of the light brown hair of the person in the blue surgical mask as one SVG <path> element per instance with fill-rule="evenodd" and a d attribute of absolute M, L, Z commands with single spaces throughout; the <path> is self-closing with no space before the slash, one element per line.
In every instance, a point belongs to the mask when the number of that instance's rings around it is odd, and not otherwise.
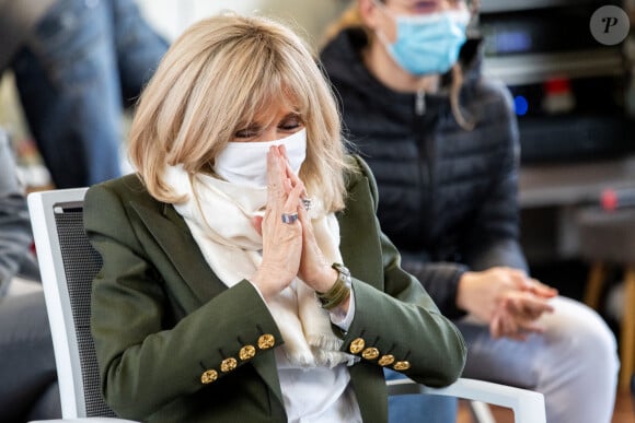
<path fill-rule="evenodd" d="M 380 2 L 385 3 L 385 0 L 380 0 Z M 476 14 L 481 4 L 480 0 L 472 1 L 465 0 L 465 2 L 467 3 L 470 13 L 472 15 Z M 339 19 L 337 19 L 335 23 L 333 23 L 326 28 L 323 45 L 335 38 L 335 36 L 339 32 L 351 27 L 359 27 L 363 30 L 369 42 L 371 43 L 373 42 L 376 35 L 373 31 L 370 30 L 363 22 L 363 19 L 359 13 L 359 5 L 357 4 L 357 1 L 353 2 L 350 7 L 339 15 Z M 463 86 L 463 68 L 461 63 L 459 62 L 454 63 L 452 66 L 451 71 L 452 71 L 452 80 L 449 89 L 450 90 L 449 97 L 450 97 L 450 107 L 452 108 L 452 116 L 454 117 L 454 120 L 457 120 L 457 124 L 459 124 L 461 128 L 471 131 L 476 126 L 476 122 L 475 120 L 467 119 L 465 116 L 463 116 L 463 111 L 461 110 L 460 93 L 461 87 Z"/>

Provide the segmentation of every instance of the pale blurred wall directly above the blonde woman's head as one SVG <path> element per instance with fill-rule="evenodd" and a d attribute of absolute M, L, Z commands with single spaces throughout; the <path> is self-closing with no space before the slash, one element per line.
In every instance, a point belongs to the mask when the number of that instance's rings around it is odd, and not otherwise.
<path fill-rule="evenodd" d="M 316 46 L 326 26 L 350 0 L 138 0 L 146 17 L 169 39 L 189 24 L 223 10 L 241 14 L 281 17 L 299 26 L 310 44 Z M 304 34 L 302 34 L 304 32 Z"/>

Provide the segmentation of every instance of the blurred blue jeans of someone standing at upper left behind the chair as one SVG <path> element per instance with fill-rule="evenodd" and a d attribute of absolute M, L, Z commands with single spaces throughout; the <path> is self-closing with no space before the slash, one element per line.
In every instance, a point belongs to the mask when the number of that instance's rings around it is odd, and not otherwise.
<path fill-rule="evenodd" d="M 56 187 L 120 176 L 124 108 L 168 47 L 134 0 L 59 0 L 46 13 L 12 68 Z"/>

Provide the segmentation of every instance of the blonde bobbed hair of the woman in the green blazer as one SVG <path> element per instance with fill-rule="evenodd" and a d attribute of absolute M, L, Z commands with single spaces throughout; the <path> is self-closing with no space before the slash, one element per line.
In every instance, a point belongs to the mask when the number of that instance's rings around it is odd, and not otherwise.
<path fill-rule="evenodd" d="M 235 131 L 280 99 L 307 128 L 307 190 L 326 210 L 342 209 L 348 165 L 331 87 L 302 39 L 263 16 L 209 17 L 172 44 L 137 106 L 130 162 L 154 198 L 182 201 L 163 179 L 165 165 L 209 172 Z"/>

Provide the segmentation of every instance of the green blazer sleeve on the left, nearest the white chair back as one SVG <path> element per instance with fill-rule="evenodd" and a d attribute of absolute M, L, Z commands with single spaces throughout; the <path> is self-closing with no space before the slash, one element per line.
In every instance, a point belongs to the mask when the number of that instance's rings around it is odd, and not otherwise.
<path fill-rule="evenodd" d="M 102 391 L 118 415 L 147 420 L 173 400 L 206 387 L 201 378 L 231 374 L 222 371 L 223 365 L 240 367 L 270 353 L 274 345 L 263 343 L 263 336 L 276 340 L 276 345 L 282 341 L 265 303 L 247 281 L 222 290 L 192 313 L 175 316 L 174 292 L 168 294 L 164 287 L 172 277 L 158 270 L 155 256 L 150 259 L 139 240 L 142 230 L 132 220 L 116 191 L 104 185 L 88 191 L 84 226 L 104 258 L 93 281 L 91 304 Z M 172 287 L 186 290 L 187 285 L 181 282 Z M 256 356 L 239 359 L 244 345 L 252 345 Z"/>

